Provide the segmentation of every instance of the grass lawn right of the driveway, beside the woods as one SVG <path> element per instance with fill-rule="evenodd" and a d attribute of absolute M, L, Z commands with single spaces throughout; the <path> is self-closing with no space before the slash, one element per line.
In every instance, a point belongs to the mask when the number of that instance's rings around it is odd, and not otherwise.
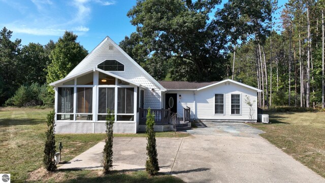
<path fill-rule="evenodd" d="M 251 124 L 261 134 L 325 178 L 325 112 L 269 113 L 271 124 Z"/>

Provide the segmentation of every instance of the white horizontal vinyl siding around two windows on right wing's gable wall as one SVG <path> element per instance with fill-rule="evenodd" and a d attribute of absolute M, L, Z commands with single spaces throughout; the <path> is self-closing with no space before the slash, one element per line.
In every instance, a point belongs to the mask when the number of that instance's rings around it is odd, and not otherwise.
<path fill-rule="evenodd" d="M 214 95 L 224 94 L 224 114 L 214 114 Z M 240 94 L 241 96 L 241 114 L 231 114 L 231 94 Z M 246 104 L 246 96 L 249 97 L 252 106 L 252 119 L 257 119 L 256 101 L 257 93 L 255 90 L 240 86 L 235 83 L 227 82 L 208 87 L 196 92 L 196 117 L 199 119 L 221 119 L 221 120 L 249 120 L 250 107 Z"/>

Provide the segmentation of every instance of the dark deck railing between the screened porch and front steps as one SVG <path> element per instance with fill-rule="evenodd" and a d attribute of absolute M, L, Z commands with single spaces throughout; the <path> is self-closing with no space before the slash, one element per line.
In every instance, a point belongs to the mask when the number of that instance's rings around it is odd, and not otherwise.
<path fill-rule="evenodd" d="M 156 125 L 168 125 L 171 118 L 170 109 L 151 109 L 154 114 L 154 123 Z M 147 109 L 139 109 L 139 124 L 146 125 L 147 121 Z"/>

